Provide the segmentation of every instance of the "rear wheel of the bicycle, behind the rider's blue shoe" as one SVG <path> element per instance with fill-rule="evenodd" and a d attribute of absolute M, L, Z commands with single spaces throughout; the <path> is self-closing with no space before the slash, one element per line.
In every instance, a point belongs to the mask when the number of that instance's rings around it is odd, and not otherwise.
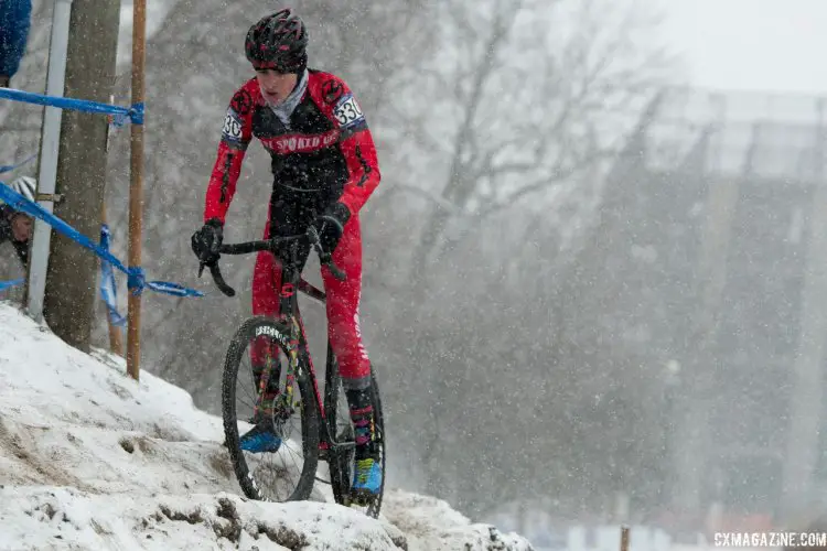
<path fill-rule="evenodd" d="M 342 378 L 339 376 L 339 366 L 333 364 L 329 366 L 326 374 L 326 388 L 324 392 L 324 411 L 327 415 L 327 431 L 339 443 L 353 443 L 354 432 L 351 424 L 350 411 L 347 409 L 347 398 L 342 386 Z M 385 450 L 385 422 L 382 414 L 382 399 L 379 398 L 379 386 L 376 382 L 376 371 L 370 371 L 370 385 L 374 393 L 374 424 L 376 445 L 379 450 L 379 464 L 382 465 L 382 487 L 379 493 L 372 501 L 364 507 L 364 512 L 368 517 L 378 518 L 382 509 L 382 499 L 385 494 L 385 479 L 387 471 L 386 450 Z M 353 507 L 351 501 L 351 485 L 353 484 L 353 469 L 355 463 L 355 451 L 353 447 L 331 447 L 327 455 L 330 464 L 331 486 L 333 487 L 333 497 L 336 503 L 345 507 Z"/>

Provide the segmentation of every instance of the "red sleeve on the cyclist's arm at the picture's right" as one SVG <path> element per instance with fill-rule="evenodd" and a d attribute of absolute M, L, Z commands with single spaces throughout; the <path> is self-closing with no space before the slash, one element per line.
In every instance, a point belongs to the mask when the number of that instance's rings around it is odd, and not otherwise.
<path fill-rule="evenodd" d="M 351 214 L 356 214 L 382 179 L 376 147 L 365 115 L 347 85 L 326 73 L 314 76 L 318 80 L 313 83 L 315 86 L 311 85 L 311 93 L 318 96 L 322 111 L 342 131 L 340 148 L 347 163 L 348 179 L 339 201 Z"/>

